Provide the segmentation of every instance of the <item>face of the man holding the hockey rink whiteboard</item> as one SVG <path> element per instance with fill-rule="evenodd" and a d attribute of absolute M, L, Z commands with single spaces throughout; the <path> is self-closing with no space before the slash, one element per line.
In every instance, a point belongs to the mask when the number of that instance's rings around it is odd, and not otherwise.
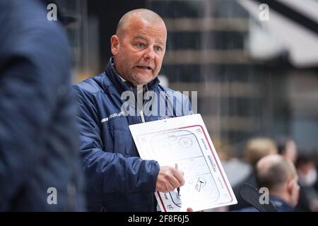
<path fill-rule="evenodd" d="M 131 19 L 124 32 L 112 36 L 112 54 L 117 72 L 134 85 L 146 85 L 158 76 L 165 55 L 167 30 L 160 21 Z"/>

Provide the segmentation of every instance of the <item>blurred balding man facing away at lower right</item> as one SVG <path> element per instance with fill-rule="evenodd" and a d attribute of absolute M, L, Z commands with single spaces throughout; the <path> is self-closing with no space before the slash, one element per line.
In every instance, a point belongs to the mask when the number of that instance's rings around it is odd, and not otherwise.
<path fill-rule="evenodd" d="M 298 176 L 293 162 L 281 155 L 266 155 L 257 162 L 257 184 L 269 189 L 269 200 L 278 212 L 293 212 L 298 203 Z M 242 211 L 257 211 L 245 208 Z"/>

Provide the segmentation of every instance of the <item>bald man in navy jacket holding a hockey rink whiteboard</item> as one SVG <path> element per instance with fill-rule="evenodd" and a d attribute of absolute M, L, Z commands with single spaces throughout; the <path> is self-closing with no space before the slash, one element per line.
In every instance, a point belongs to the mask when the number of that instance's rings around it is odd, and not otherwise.
<path fill-rule="evenodd" d="M 89 210 L 154 211 L 155 191 L 184 184 L 181 170 L 142 160 L 129 131 L 131 124 L 192 113 L 186 96 L 159 84 L 166 40 L 157 13 L 129 11 L 111 37 L 113 57 L 105 71 L 73 86 Z"/>

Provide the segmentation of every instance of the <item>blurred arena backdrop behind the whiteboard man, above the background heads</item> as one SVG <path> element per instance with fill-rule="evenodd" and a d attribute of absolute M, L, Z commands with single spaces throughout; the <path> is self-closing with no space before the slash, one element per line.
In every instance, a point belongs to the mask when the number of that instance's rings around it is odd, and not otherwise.
<path fill-rule="evenodd" d="M 101 73 L 119 18 L 150 8 L 167 25 L 160 76 L 198 91 L 198 113 L 216 148 L 244 157 L 256 136 L 290 136 L 299 152 L 318 150 L 318 3 L 280 0 L 57 1 L 67 25 L 73 82 Z M 273 1 L 272 1 L 273 2 Z M 220 148 L 222 149 L 222 148 Z"/>

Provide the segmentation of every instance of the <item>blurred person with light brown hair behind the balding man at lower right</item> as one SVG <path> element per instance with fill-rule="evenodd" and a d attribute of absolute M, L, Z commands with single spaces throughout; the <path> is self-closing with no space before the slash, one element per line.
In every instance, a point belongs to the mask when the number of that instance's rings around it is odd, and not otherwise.
<path fill-rule="evenodd" d="M 257 186 L 255 167 L 257 162 L 266 155 L 277 154 L 276 143 L 270 138 L 252 138 L 247 142 L 245 149 L 245 160 L 252 167 L 250 174 L 237 186 L 233 187 L 235 197 L 237 198 L 237 205 L 230 206 L 230 210 L 240 210 L 249 207 L 250 204 L 244 201 L 240 196 L 240 189 L 242 184 L 250 184 L 254 187 Z"/>

